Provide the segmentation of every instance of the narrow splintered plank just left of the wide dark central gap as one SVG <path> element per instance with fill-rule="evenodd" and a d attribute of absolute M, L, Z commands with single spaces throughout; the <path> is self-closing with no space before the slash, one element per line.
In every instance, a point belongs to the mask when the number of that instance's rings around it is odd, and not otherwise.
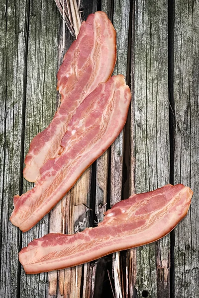
<path fill-rule="evenodd" d="M 113 13 L 112 23 L 117 33 L 117 61 L 113 74 L 123 74 L 126 77 L 130 0 L 114 0 L 114 3 L 111 3 L 111 5 L 109 1 L 102 1 L 102 7 L 103 5 L 109 14 Z M 122 131 L 110 149 L 110 207 L 122 198 L 123 148 L 124 134 Z M 99 172 L 105 169 L 99 169 Z M 113 254 L 112 278 L 114 280 L 115 297 L 120 298 L 123 295 L 123 283 L 119 253 Z"/>

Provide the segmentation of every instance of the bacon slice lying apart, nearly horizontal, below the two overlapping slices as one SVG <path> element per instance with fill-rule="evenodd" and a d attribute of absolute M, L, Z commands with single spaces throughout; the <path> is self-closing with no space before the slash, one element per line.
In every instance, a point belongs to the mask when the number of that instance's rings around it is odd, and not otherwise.
<path fill-rule="evenodd" d="M 50 233 L 33 240 L 19 252 L 19 261 L 27 274 L 35 274 L 156 241 L 187 215 L 192 195 L 193 191 L 182 184 L 133 195 L 108 210 L 97 227 L 73 235 Z"/>

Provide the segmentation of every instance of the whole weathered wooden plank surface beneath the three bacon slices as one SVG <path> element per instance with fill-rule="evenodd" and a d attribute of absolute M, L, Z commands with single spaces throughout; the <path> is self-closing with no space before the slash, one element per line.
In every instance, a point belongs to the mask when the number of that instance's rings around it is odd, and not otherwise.
<path fill-rule="evenodd" d="M 32 138 L 59 102 L 56 73 L 73 41 L 53 0 L 0 1 L 0 298 L 199 297 L 199 0 L 83 0 L 117 31 L 114 74 L 132 104 L 124 131 L 30 231 L 9 222 Z M 167 183 L 194 191 L 188 216 L 163 239 L 52 273 L 25 275 L 17 254 L 48 232 L 96 226 L 134 192 Z M 87 211 L 85 203 L 93 211 Z"/>

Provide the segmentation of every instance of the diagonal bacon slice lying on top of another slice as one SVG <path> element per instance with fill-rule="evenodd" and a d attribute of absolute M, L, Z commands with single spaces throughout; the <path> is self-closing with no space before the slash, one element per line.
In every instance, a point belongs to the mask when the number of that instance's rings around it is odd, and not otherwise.
<path fill-rule="evenodd" d="M 43 165 L 32 190 L 14 196 L 12 224 L 27 231 L 57 204 L 119 135 L 130 100 L 123 75 L 112 76 L 87 96 L 70 121 L 61 155 Z"/>

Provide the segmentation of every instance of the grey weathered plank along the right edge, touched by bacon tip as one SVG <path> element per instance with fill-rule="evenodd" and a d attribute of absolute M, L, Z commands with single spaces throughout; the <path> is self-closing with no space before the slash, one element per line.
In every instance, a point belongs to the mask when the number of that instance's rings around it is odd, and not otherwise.
<path fill-rule="evenodd" d="M 174 182 L 194 191 L 188 216 L 175 229 L 175 297 L 199 297 L 199 1 L 175 3 Z"/>

